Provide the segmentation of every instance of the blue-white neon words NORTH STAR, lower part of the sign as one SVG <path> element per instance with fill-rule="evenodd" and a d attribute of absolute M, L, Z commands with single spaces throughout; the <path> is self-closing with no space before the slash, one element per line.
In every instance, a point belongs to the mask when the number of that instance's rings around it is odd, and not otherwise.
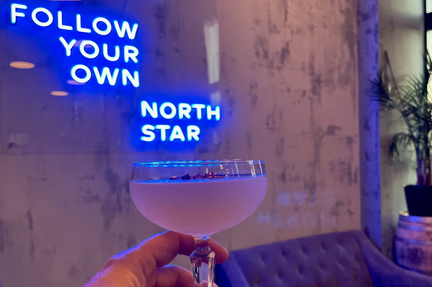
<path fill-rule="evenodd" d="M 159 105 L 156 102 L 151 104 L 147 101 L 141 101 L 141 116 L 143 118 L 165 119 L 165 120 L 197 120 L 197 121 L 214 121 L 220 120 L 220 107 L 212 107 L 209 104 L 173 104 L 164 102 Z M 159 136 L 162 142 L 181 141 L 181 142 L 198 142 L 200 140 L 200 127 L 196 125 L 187 125 L 181 128 L 179 125 L 167 124 L 144 124 L 141 128 L 143 136 L 141 141 L 152 142 Z"/>

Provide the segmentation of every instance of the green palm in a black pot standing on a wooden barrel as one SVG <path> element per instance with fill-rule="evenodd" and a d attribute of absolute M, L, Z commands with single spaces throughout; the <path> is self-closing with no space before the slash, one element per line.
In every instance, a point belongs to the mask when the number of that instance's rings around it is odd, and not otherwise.
<path fill-rule="evenodd" d="M 387 53 L 386 65 L 370 81 L 369 96 L 383 104 L 385 110 L 397 110 L 406 125 L 391 139 L 390 153 L 399 156 L 400 149 L 413 148 L 416 157 L 417 184 L 405 186 L 410 215 L 432 216 L 431 140 L 432 140 L 432 65 L 425 57 L 424 73 L 409 76 L 403 83 L 395 81 Z M 429 85 L 428 85 L 429 84 Z"/>

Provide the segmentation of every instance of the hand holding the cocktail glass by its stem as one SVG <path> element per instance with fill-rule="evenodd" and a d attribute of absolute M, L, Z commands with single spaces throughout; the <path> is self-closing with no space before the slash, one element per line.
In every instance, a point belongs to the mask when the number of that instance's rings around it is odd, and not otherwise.
<path fill-rule="evenodd" d="M 228 251 L 213 240 L 216 263 L 228 258 Z M 167 231 L 114 255 L 83 287 L 192 287 L 191 271 L 167 265 L 177 254 L 191 255 L 194 237 Z M 216 284 L 213 284 L 216 286 Z"/>

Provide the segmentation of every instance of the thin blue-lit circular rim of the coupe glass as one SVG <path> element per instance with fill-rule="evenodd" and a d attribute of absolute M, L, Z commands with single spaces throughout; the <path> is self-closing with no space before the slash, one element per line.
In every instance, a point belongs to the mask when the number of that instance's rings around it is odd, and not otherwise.
<path fill-rule="evenodd" d="M 219 164 L 264 164 L 262 160 L 218 159 L 218 160 L 175 160 L 175 161 L 139 161 L 132 167 L 193 167 L 212 166 Z"/>

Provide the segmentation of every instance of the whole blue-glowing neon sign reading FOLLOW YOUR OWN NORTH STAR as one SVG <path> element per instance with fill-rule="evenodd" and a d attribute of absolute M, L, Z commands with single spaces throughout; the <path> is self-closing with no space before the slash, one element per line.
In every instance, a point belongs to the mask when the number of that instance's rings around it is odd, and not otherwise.
<path fill-rule="evenodd" d="M 131 143 L 137 149 L 178 150 L 181 143 L 184 150 L 200 144 L 218 144 L 214 127 L 220 125 L 223 118 L 222 108 L 218 105 L 221 95 L 217 92 L 210 98 L 203 97 L 202 91 L 187 88 L 187 84 L 182 83 L 183 88 L 167 89 L 168 95 L 152 95 L 160 87 L 148 82 L 143 89 L 146 95 L 127 93 L 140 87 L 140 73 L 151 73 L 151 69 L 145 69 L 147 65 L 143 65 L 144 70 L 139 68 L 140 63 L 146 63 L 146 57 L 151 57 L 149 53 L 141 54 L 140 47 L 148 50 L 154 41 L 146 38 L 146 45 L 141 45 L 137 33 L 140 28 L 140 35 L 147 35 L 145 25 L 139 26 L 127 15 L 119 16 L 108 10 L 93 14 L 92 6 L 71 6 L 67 10 L 68 4 L 50 2 L 43 5 L 4 3 L 4 9 L 10 9 L 10 19 L 0 19 L 0 24 L 3 24 L 2 20 L 6 22 L 18 40 L 26 33 L 26 41 L 32 41 L 29 47 L 35 49 L 29 54 L 44 55 L 47 66 L 54 70 L 51 73 L 69 84 L 65 89 L 71 94 L 77 91 L 100 94 L 103 91 L 109 101 L 113 99 L 111 95 L 116 98 L 131 95 L 131 105 L 127 109 L 132 109 L 133 113 L 127 112 L 124 117 L 127 118 L 127 130 L 130 129 Z M 148 67 L 151 68 L 151 64 L 150 61 Z M 178 94 L 173 95 L 173 91 Z"/>

